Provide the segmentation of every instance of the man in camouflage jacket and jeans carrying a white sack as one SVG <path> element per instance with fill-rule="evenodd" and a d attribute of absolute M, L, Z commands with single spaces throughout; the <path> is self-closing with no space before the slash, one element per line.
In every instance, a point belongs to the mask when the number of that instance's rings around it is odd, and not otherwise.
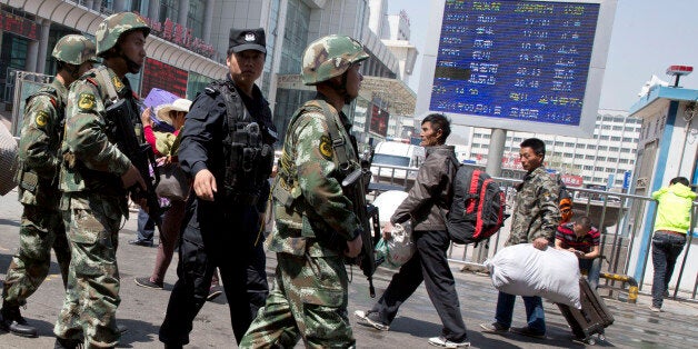
<path fill-rule="evenodd" d="M 506 246 L 532 243 L 545 250 L 554 241 L 557 226 L 560 222 L 558 207 L 558 181 L 544 167 L 546 143 L 537 138 L 521 142 L 519 156 L 521 166 L 528 171 L 517 188 L 516 202 L 511 217 L 511 233 Z M 524 336 L 544 338 L 546 319 L 540 297 L 522 297 L 526 305 L 528 325 L 511 328 L 512 332 Z M 499 292 L 497 315 L 493 323 L 481 323 L 487 332 L 506 332 L 511 326 L 516 296 Z"/>

